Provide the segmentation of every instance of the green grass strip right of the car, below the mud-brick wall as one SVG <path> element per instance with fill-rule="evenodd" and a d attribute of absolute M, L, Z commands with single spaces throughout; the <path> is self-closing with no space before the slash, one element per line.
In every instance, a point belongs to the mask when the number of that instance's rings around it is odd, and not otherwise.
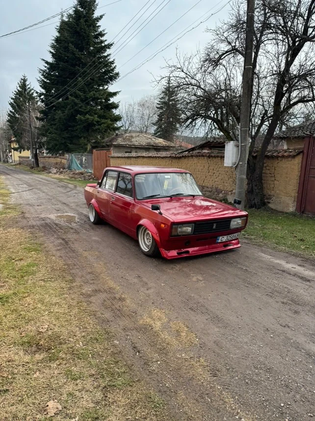
<path fill-rule="evenodd" d="M 269 208 L 248 210 L 245 236 L 277 249 L 315 257 L 315 218 Z"/>

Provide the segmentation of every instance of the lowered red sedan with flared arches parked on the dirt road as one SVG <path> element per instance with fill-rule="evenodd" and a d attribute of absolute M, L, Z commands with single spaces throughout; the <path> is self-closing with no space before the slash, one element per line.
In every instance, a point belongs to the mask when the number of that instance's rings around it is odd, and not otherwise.
<path fill-rule="evenodd" d="M 104 170 L 84 197 L 93 224 L 102 220 L 166 259 L 240 247 L 247 213 L 203 197 L 185 170 L 126 166 Z"/>

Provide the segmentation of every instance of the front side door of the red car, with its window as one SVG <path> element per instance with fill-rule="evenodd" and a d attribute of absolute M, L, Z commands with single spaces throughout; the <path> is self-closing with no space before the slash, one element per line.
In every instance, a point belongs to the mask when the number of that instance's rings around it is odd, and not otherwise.
<path fill-rule="evenodd" d="M 129 173 L 120 172 L 116 184 L 116 190 L 111 195 L 110 211 L 112 214 L 112 224 L 120 230 L 135 236 L 135 227 L 131 224 L 133 212 L 133 180 Z"/>

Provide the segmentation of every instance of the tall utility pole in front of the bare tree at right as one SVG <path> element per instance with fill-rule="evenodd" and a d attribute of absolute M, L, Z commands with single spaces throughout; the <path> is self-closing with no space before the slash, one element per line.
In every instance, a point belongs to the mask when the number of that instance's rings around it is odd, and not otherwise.
<path fill-rule="evenodd" d="M 254 48 L 255 0 L 247 0 L 245 58 L 239 124 L 239 161 L 236 166 L 236 199 L 239 209 L 245 207 L 246 171 L 249 150 L 249 121 L 252 96 L 252 69 Z"/>

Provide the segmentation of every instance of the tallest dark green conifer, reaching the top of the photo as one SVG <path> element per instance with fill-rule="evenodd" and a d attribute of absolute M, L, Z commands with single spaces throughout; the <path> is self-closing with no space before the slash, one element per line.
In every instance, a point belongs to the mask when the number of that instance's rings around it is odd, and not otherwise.
<path fill-rule="evenodd" d="M 112 101 L 118 92 L 108 89 L 119 73 L 109 53 L 113 44 L 99 24 L 104 15 L 96 16 L 96 8 L 96 0 L 78 0 L 60 20 L 51 60 L 42 60 L 41 133 L 52 153 L 86 152 L 119 128 L 119 104 Z"/>

